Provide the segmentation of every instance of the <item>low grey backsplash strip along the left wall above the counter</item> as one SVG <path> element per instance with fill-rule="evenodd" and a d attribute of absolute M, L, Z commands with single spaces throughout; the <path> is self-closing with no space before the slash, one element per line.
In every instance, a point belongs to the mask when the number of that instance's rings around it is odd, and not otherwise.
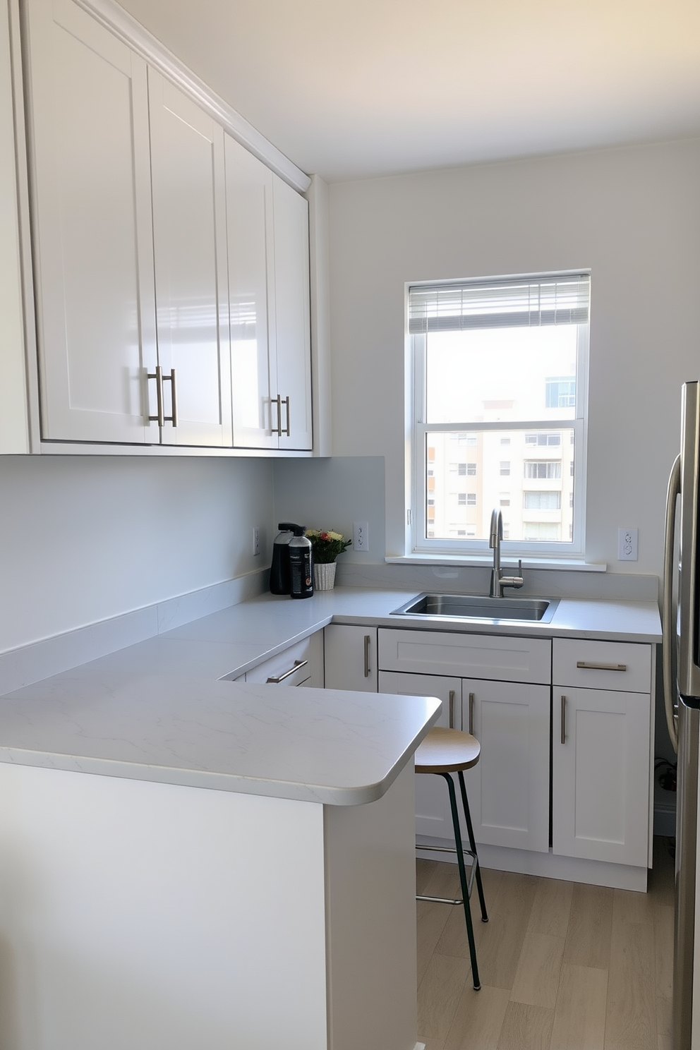
<path fill-rule="evenodd" d="M 118 649 L 164 634 L 211 612 L 238 605 L 261 594 L 267 589 L 268 575 L 269 569 L 258 569 L 235 580 L 226 580 L 189 594 L 178 594 L 121 616 L 0 653 L 0 694 L 30 686 Z"/>

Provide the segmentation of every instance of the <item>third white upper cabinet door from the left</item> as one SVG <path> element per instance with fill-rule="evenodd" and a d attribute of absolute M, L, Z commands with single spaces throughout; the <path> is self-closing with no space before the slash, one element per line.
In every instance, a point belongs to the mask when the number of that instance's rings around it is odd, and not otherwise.
<path fill-rule="evenodd" d="M 268 328 L 273 174 L 230 135 L 225 141 L 233 443 L 276 448 L 278 405 L 271 403 Z"/>

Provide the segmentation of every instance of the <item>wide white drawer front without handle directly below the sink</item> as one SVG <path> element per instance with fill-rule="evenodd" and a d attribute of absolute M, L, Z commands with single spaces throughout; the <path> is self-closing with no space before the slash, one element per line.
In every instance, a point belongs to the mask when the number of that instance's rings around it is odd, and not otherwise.
<path fill-rule="evenodd" d="M 449 631 L 401 631 L 380 628 L 382 671 L 451 674 L 494 681 L 551 681 L 549 638 L 458 634 Z"/>

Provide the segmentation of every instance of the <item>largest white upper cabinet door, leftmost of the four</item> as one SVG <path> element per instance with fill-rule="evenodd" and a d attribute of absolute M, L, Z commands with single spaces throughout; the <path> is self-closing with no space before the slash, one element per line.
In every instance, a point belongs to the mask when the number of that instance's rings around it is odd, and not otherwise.
<path fill-rule="evenodd" d="M 70 0 L 27 9 L 42 437 L 157 441 L 146 67 Z"/>

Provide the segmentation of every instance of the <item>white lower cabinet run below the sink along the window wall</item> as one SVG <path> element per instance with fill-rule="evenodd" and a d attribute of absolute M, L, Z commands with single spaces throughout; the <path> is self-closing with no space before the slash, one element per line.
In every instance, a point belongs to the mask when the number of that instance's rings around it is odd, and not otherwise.
<path fill-rule="evenodd" d="M 653 646 L 342 625 L 324 636 L 327 688 L 437 696 L 439 726 L 473 732 L 465 780 L 490 864 L 645 887 Z M 453 838 L 441 777 L 416 778 L 416 831 Z"/>

